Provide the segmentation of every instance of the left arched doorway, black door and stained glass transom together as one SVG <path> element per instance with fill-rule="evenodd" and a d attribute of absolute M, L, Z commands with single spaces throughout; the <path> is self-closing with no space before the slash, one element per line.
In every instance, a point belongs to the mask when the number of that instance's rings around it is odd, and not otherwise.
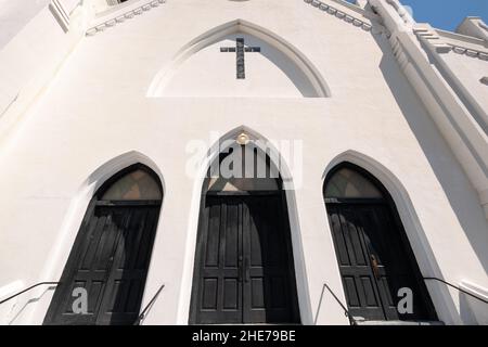
<path fill-rule="evenodd" d="M 142 164 L 119 171 L 97 191 L 44 324 L 136 322 L 162 201 L 159 178 Z"/>

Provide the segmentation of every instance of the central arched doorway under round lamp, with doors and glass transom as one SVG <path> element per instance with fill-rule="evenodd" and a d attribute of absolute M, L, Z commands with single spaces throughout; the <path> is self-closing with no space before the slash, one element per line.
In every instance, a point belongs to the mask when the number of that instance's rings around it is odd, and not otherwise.
<path fill-rule="evenodd" d="M 204 181 L 189 321 L 300 322 L 282 179 L 252 142 L 222 151 Z"/>

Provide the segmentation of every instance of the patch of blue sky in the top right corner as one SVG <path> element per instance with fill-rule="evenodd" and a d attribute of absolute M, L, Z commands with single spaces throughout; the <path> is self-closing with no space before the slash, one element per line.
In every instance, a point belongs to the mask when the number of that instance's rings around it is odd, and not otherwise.
<path fill-rule="evenodd" d="M 416 22 L 431 23 L 445 30 L 454 30 L 466 16 L 480 16 L 488 23 L 488 0 L 400 0 L 413 10 Z"/>

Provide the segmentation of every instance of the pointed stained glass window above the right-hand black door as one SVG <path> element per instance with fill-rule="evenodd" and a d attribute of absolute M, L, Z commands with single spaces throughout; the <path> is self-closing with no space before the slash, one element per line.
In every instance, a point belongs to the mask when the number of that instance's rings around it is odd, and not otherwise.
<path fill-rule="evenodd" d="M 325 197 L 381 198 L 383 194 L 364 176 L 349 168 L 342 168 L 329 180 Z"/>

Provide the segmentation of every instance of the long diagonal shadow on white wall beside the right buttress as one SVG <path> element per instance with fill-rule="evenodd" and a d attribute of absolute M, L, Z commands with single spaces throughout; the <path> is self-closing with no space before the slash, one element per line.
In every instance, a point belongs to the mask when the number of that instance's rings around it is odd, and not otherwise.
<path fill-rule="evenodd" d="M 422 147 L 438 182 L 442 187 L 476 257 L 484 267 L 485 272 L 487 272 L 488 253 L 486 252 L 486 245 L 488 244 L 488 233 L 486 232 L 486 219 L 481 206 L 476 198 L 473 198 L 473 196 L 477 196 L 477 193 L 467 181 L 459 163 L 452 157 L 450 152 L 446 151 L 448 144 L 444 140 L 438 141 L 436 137 L 432 137 L 433 133 L 438 132 L 438 129 L 434 120 L 428 116 L 427 111 L 420 102 L 416 102 L 419 100 L 418 95 L 400 70 L 389 43 L 382 38 L 374 38 L 384 54 L 380 69 L 385 81 Z M 441 228 L 441 223 L 439 223 L 439 228 Z M 453 282 L 449 278 L 445 280 Z M 445 294 L 449 295 L 448 290 L 445 291 Z M 445 297 L 448 297 L 447 295 Z M 465 312 L 467 305 L 464 305 L 464 309 L 462 306 L 461 300 L 460 309 L 464 311 L 464 313 L 461 312 L 461 319 L 465 322 L 473 322 L 473 317 Z"/>

